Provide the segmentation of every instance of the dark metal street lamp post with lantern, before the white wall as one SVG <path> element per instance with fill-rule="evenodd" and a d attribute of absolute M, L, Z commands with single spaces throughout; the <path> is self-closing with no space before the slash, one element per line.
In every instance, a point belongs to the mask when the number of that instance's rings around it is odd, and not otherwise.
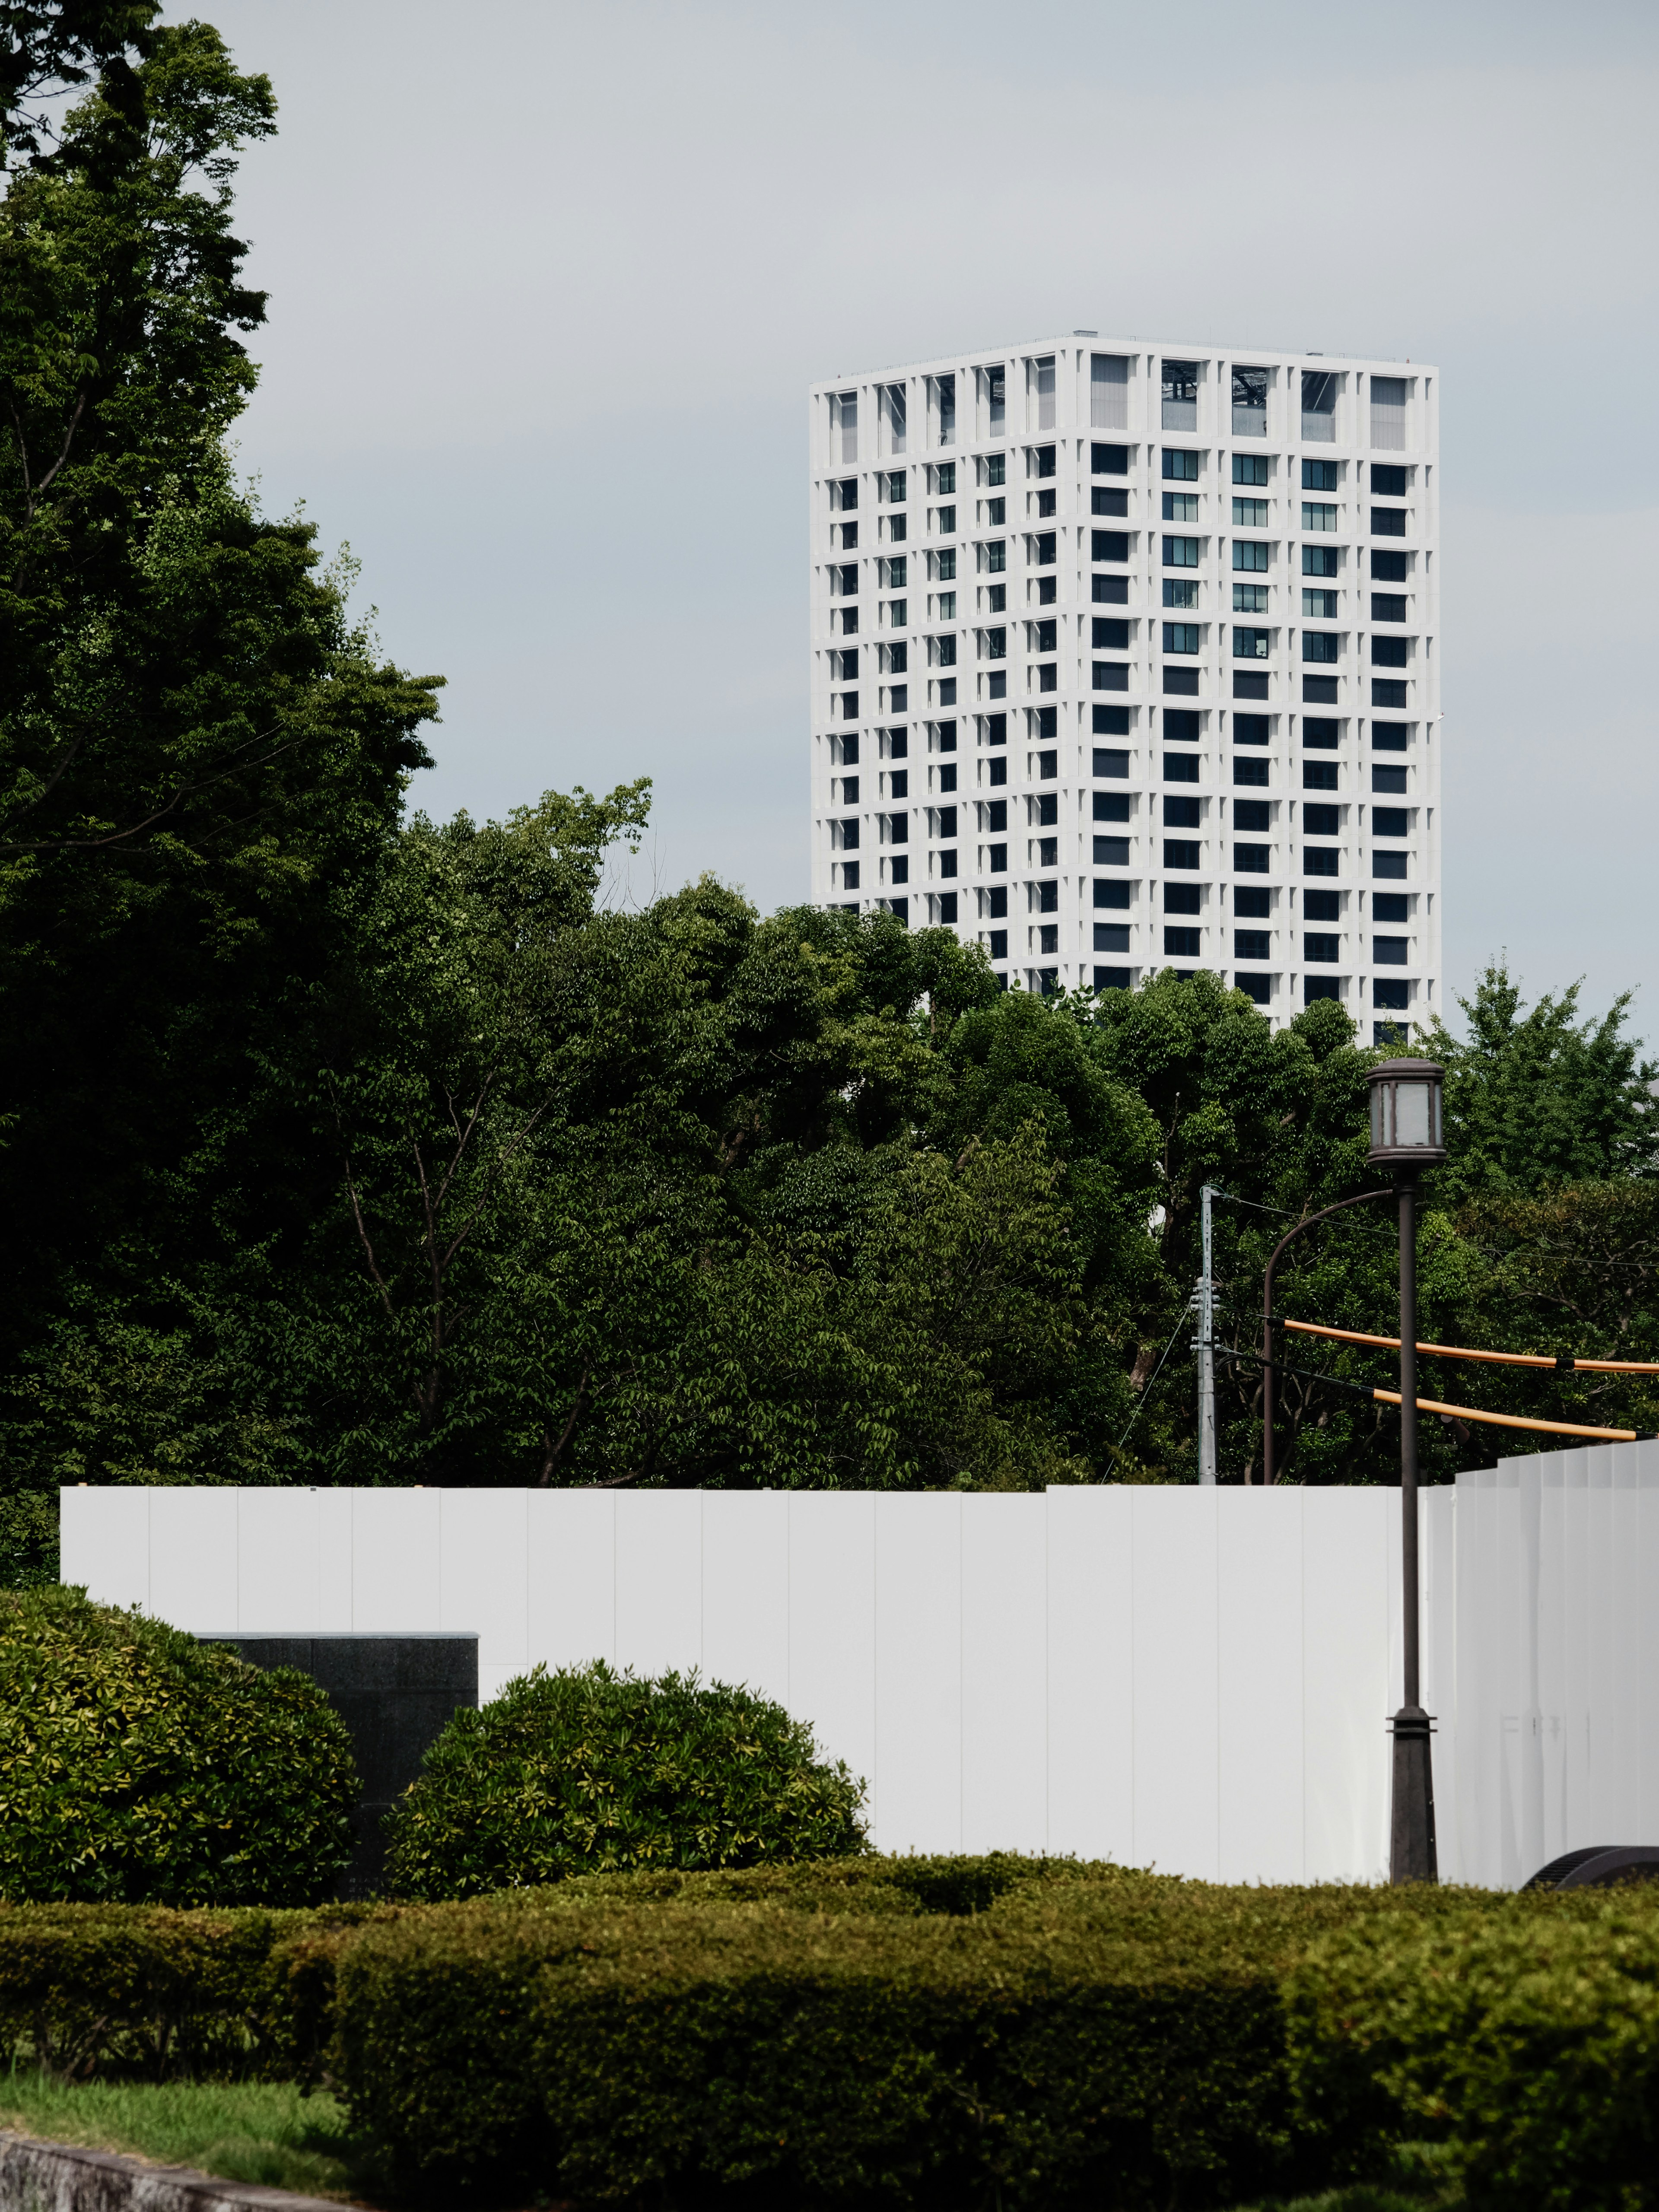
<path fill-rule="evenodd" d="M 1371 1082 L 1371 1166 L 1394 1172 L 1400 1206 L 1400 1582 L 1405 1597 L 1405 1699 L 1394 1714 L 1394 1812 L 1389 1880 L 1440 1878 L 1433 1847 L 1433 1759 L 1422 1710 L 1418 1608 L 1418 1177 L 1447 1157 L 1440 1121 L 1444 1068 L 1433 1060 L 1383 1060 Z"/>

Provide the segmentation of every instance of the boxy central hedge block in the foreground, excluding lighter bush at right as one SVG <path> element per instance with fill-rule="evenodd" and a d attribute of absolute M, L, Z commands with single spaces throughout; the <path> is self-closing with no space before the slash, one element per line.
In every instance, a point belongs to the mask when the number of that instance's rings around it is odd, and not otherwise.
<path fill-rule="evenodd" d="M 1336 2163 L 1292 2099 L 1310 1947 L 1482 1909 L 1033 1860 L 575 1880 L 356 1936 L 332 2070 L 431 2203 L 1228 2203 Z"/>

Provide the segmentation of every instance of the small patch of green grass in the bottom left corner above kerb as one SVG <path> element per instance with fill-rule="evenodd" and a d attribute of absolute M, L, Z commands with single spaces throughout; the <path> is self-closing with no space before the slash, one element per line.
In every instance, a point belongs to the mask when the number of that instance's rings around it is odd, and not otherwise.
<path fill-rule="evenodd" d="M 347 2203 L 369 2203 L 380 2179 L 343 2106 L 288 2081 L 53 2081 L 18 2068 L 0 2077 L 0 2126 Z"/>

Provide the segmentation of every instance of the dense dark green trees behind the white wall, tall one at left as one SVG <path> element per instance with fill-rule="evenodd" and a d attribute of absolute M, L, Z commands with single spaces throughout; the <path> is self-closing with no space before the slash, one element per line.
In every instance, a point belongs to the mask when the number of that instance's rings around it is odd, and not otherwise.
<path fill-rule="evenodd" d="M 1367 1188 L 1340 1006 L 1214 975 L 998 989 L 885 914 L 701 880 L 599 902 L 644 783 L 407 812 L 438 679 L 239 487 L 263 294 L 232 177 L 261 75 L 148 0 L 0 7 L 0 1575 L 60 1482 L 1040 1486 L 1190 1480 L 1203 1181 L 1228 1345 Z M 1429 1188 L 1438 1338 L 1659 1352 L 1652 1075 L 1626 1004 L 1493 971 Z M 1391 1334 L 1394 1230 L 1279 1305 Z M 1287 1480 L 1387 1480 L 1396 1416 L 1281 1391 Z M 1637 1429 L 1646 1385 L 1429 1371 Z M 1259 1367 L 1223 1365 L 1223 1480 Z M 1449 1475 L 1504 1431 L 1436 1427 Z"/>

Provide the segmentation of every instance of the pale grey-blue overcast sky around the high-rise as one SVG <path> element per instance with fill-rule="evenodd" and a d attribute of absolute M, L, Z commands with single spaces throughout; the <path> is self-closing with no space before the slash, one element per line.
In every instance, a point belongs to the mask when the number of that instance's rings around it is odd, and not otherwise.
<path fill-rule="evenodd" d="M 173 9 L 175 18 L 184 9 Z M 1650 973 L 1659 9 L 208 0 L 241 456 L 449 679 L 427 812 L 655 779 L 807 889 L 805 387 L 1084 325 L 1442 369 L 1449 987 Z"/>

